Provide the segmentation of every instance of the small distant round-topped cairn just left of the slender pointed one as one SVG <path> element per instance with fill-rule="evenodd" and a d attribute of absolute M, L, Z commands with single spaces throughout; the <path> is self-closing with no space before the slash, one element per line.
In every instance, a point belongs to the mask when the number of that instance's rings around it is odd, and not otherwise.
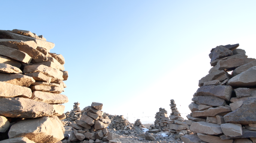
<path fill-rule="evenodd" d="M 159 130 L 159 131 L 169 131 L 168 129 L 168 121 L 169 118 L 167 116 L 167 111 L 164 108 L 159 108 L 159 112 L 156 112 L 155 114 L 155 127 Z"/>

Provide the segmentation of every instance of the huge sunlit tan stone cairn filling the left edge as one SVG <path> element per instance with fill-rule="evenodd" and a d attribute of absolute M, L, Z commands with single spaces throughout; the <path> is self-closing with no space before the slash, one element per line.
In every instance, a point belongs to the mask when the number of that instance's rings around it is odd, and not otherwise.
<path fill-rule="evenodd" d="M 64 138 L 60 119 L 68 102 L 68 72 L 55 44 L 30 31 L 0 30 L 1 143 L 55 143 Z M 59 119 L 60 118 L 60 119 Z"/>

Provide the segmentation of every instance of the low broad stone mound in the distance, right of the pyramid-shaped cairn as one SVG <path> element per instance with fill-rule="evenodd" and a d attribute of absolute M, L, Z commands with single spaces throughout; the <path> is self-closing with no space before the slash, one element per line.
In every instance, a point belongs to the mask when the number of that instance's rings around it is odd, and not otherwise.
<path fill-rule="evenodd" d="M 115 115 L 115 118 L 109 126 L 110 129 L 115 128 L 116 130 L 131 130 L 132 127 L 133 125 L 124 118 L 124 115 Z"/>

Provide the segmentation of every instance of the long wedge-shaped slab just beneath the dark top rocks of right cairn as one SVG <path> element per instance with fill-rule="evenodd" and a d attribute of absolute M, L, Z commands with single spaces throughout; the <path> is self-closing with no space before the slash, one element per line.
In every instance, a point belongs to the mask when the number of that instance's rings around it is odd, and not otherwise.
<path fill-rule="evenodd" d="M 220 60 L 217 63 L 218 70 L 231 69 L 234 67 L 243 66 L 244 64 L 248 64 L 251 61 L 256 60 L 255 58 L 229 58 L 227 60 Z"/>

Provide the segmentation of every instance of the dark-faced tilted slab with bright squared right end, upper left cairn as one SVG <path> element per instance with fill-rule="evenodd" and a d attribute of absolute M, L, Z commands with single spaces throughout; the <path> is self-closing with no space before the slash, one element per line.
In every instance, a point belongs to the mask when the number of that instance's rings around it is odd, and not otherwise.
<path fill-rule="evenodd" d="M 21 61 L 26 64 L 29 64 L 32 60 L 32 58 L 27 53 L 3 45 L 0 45 L 0 55 L 4 55 L 6 57 L 12 58 L 13 60 Z"/>

